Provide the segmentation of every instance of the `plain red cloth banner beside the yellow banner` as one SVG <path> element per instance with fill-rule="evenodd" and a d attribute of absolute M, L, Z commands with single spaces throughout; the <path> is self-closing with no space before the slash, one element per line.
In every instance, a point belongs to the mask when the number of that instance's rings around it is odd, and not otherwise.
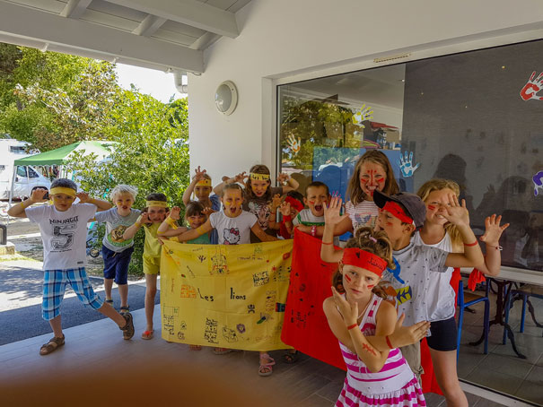
<path fill-rule="evenodd" d="M 346 370 L 337 338 L 322 310 L 322 302 L 332 295 L 330 287 L 337 264 L 320 260 L 320 246 L 320 239 L 295 230 L 281 339 L 312 358 Z"/>

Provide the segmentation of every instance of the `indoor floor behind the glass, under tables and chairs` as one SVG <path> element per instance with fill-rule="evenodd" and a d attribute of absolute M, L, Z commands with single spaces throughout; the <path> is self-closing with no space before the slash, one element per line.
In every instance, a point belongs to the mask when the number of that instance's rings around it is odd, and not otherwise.
<path fill-rule="evenodd" d="M 539 323 L 543 320 L 543 300 L 530 299 L 536 310 Z M 479 303 L 472 307 L 476 314 L 464 314 L 462 345 L 460 346 L 459 377 L 477 385 L 483 385 L 506 394 L 513 394 L 523 400 L 543 405 L 543 329 L 531 320 L 528 307 L 524 333 L 519 333 L 521 323 L 521 301 L 512 307 L 509 324 L 515 336 L 517 348 L 527 359 L 517 358 L 511 342 L 502 344 L 504 327 L 491 327 L 488 355 L 483 354 L 483 345 L 469 346 L 476 341 L 483 329 L 484 306 Z M 491 300 L 491 320 L 495 316 L 495 295 Z"/>

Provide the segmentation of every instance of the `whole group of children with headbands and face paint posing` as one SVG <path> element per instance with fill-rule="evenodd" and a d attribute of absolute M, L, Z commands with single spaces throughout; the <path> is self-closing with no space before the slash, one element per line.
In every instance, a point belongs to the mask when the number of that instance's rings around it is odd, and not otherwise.
<path fill-rule="evenodd" d="M 162 239 L 237 245 L 293 238 L 294 229 L 299 229 L 322 239 L 322 260 L 339 264 L 333 295 L 323 304 L 347 367 L 337 405 L 425 405 L 418 382 L 422 373 L 419 343 L 427 336 L 435 376 L 448 405 L 467 406 L 456 373 L 452 267 L 499 273 L 498 241 L 508 225 L 500 226 L 501 218 L 495 215 L 486 218 L 486 233 L 480 238 L 486 244 L 483 256 L 469 228 L 469 213 L 459 202 L 458 185 L 433 179 L 417 195 L 401 193 L 390 161 L 376 150 L 364 153 L 356 163 L 345 207 L 323 183 L 312 182 L 303 196 L 293 178 L 280 174 L 281 186 L 273 187 L 270 176 L 266 166 L 256 165 L 249 174 L 223 178 L 213 188 L 206 170 L 198 167 L 183 195 L 186 227 L 180 224 L 180 208 L 170 209 L 163 194 L 148 195 L 143 211 L 133 209 L 137 190 L 124 185 L 111 192 L 115 207 L 76 194 L 76 186 L 66 179 L 51 185 L 53 205 L 29 208 L 44 200 L 47 191 L 38 189 L 30 199 L 13 206 L 11 216 L 39 223 L 44 242 L 42 309 L 55 336 L 40 353 L 48 354 L 64 344 L 58 307 L 66 282 L 83 303 L 113 319 L 125 339 L 132 337 L 127 269 L 133 238 L 141 228 L 145 230 L 146 280 L 142 338 L 147 340 L 154 333 Z M 191 201 L 193 194 L 196 200 Z M 73 204 L 75 196 L 79 204 Z M 279 213 L 281 219 L 277 219 Z M 102 245 L 107 304 L 92 291 L 84 273 L 84 231 L 92 218 L 107 225 Z M 337 238 L 346 231 L 354 237 L 339 248 Z M 120 314 L 110 307 L 113 281 L 121 298 Z M 197 345 L 190 348 L 201 350 Z M 214 349 L 217 354 L 229 351 Z M 259 359 L 258 374 L 269 376 L 275 360 L 267 352 L 260 352 Z M 295 359 L 295 351 L 285 354 L 285 361 Z"/>

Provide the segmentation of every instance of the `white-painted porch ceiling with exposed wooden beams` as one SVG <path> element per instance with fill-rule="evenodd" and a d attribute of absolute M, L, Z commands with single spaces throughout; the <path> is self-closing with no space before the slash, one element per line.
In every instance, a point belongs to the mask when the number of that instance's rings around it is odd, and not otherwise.
<path fill-rule="evenodd" d="M 204 72 L 250 0 L 0 0 L 0 42 L 163 71 Z"/>

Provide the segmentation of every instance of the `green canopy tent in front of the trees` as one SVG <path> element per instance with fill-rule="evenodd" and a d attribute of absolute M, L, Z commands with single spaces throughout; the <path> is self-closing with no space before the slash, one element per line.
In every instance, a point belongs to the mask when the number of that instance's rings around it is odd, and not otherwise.
<path fill-rule="evenodd" d="M 83 141 L 77 142 L 64 147 L 57 148 L 56 150 L 51 150 L 50 152 L 41 152 L 39 154 L 31 155 L 29 157 L 24 157 L 19 160 L 14 160 L 13 162 L 13 177 L 11 182 L 11 190 L 9 196 L 9 203 L 11 206 L 13 198 L 13 185 L 15 181 L 15 174 L 17 167 L 20 166 L 32 166 L 32 167 L 49 167 L 52 165 L 63 165 L 66 164 L 70 159 L 71 155 L 74 152 L 83 152 L 84 155 L 95 154 L 96 160 L 103 160 L 108 157 L 111 153 L 111 146 L 113 142 L 103 142 L 103 141 Z"/>

